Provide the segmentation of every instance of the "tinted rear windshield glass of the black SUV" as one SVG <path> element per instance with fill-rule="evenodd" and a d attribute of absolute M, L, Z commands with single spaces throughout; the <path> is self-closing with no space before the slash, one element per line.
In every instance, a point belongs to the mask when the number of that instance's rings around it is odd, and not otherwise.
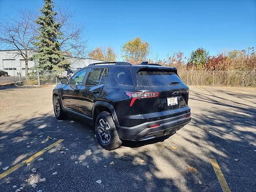
<path fill-rule="evenodd" d="M 140 71 L 137 73 L 137 86 L 174 86 L 183 84 L 174 72 Z"/>

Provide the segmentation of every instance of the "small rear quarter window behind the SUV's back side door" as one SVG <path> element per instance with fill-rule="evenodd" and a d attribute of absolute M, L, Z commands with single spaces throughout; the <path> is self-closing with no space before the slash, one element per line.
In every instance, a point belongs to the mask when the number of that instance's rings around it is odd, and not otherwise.
<path fill-rule="evenodd" d="M 118 84 L 133 86 L 130 68 L 116 68 L 113 73 Z"/>

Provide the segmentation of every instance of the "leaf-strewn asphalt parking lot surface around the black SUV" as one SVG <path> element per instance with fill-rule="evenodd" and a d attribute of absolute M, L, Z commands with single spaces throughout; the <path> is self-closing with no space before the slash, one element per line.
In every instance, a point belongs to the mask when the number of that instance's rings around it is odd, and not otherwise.
<path fill-rule="evenodd" d="M 255 89 L 191 86 L 190 124 L 113 151 L 99 146 L 86 123 L 54 117 L 52 89 L 0 87 L 0 174 L 63 140 L 1 178 L 1 192 L 22 184 L 22 192 L 256 191 Z"/>

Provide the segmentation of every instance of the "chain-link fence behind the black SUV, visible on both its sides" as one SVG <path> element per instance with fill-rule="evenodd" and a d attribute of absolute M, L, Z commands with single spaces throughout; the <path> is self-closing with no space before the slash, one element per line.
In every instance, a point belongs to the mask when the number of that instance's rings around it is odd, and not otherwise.
<path fill-rule="evenodd" d="M 58 84 L 66 72 L 53 70 L 14 70 L 16 86 Z M 178 71 L 187 85 L 256 87 L 256 71 Z"/>

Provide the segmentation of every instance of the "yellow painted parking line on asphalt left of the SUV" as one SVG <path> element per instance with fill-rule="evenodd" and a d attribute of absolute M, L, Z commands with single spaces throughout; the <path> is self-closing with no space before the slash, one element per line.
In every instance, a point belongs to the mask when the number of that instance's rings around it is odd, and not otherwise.
<path fill-rule="evenodd" d="M 58 145 L 59 143 L 61 143 L 62 141 L 64 141 L 63 139 L 60 139 L 58 141 L 56 141 L 55 143 L 49 145 L 48 147 L 44 148 L 43 150 L 37 152 L 36 154 L 32 155 L 31 157 L 27 158 L 26 160 L 22 161 L 21 163 L 13 166 L 12 168 L 8 169 L 7 171 L 3 172 L 2 174 L 0 174 L 0 179 L 2 179 L 3 177 L 7 176 L 8 174 L 10 174 L 11 172 L 14 172 L 15 170 L 17 170 L 18 168 L 20 168 L 22 165 L 27 164 L 29 162 L 31 162 L 32 160 L 34 160 L 34 158 L 42 155 L 44 152 L 46 152 L 47 150 L 53 148 L 54 146 Z"/>

